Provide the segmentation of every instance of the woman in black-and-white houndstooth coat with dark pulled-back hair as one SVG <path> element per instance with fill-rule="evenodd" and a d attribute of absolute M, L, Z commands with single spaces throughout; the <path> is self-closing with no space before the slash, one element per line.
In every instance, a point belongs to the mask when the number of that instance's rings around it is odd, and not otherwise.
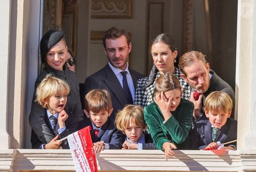
<path fill-rule="evenodd" d="M 134 104 L 145 107 L 153 102 L 155 80 L 160 74 L 166 72 L 174 73 L 181 83 L 181 98 L 189 100 L 189 84 L 181 77 L 181 71 L 178 69 L 180 55 L 177 48 L 173 45 L 170 35 L 166 33 L 158 35 L 151 44 L 150 54 L 154 65 L 149 77 L 144 77 L 137 81 Z"/>

